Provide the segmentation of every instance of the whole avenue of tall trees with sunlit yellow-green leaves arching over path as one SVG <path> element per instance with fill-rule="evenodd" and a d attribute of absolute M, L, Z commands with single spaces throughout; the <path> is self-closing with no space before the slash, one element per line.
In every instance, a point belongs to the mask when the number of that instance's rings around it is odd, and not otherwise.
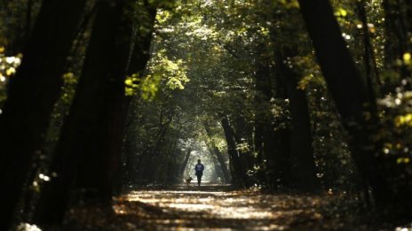
<path fill-rule="evenodd" d="M 181 183 L 194 150 L 410 217 L 411 54 L 404 0 L 1 1 L 0 229 Z"/>

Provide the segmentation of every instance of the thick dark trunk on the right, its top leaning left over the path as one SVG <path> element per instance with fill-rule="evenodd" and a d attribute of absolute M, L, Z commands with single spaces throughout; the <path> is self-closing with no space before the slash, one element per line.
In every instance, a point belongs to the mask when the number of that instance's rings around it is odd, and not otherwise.
<path fill-rule="evenodd" d="M 362 179 L 373 189 L 376 202 L 383 203 L 392 196 L 376 159 L 379 144 L 372 140 L 376 134 L 376 99 L 368 93 L 356 69 L 329 1 L 299 0 L 299 4 L 321 71 L 350 134 L 353 159 Z"/>

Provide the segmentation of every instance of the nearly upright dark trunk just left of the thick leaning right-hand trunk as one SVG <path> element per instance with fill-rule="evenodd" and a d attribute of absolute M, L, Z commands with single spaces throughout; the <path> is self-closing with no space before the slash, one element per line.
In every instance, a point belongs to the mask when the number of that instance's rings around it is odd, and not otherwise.
<path fill-rule="evenodd" d="M 278 50 L 276 63 L 278 74 L 286 85 L 289 97 L 289 110 L 291 115 L 290 127 L 290 167 L 292 188 L 314 192 L 320 189 L 320 182 L 316 177 L 316 167 L 313 158 L 313 138 L 311 120 L 307 105 L 305 90 L 297 89 L 299 78 L 295 70 L 285 64 L 288 57 L 297 55 L 293 50 Z"/>

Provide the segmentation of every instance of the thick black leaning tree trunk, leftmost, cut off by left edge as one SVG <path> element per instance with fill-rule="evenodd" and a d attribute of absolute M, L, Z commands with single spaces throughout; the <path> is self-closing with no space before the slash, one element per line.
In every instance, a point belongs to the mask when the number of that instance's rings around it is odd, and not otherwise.
<path fill-rule="evenodd" d="M 2 230 L 10 225 L 31 158 L 42 149 L 84 4 L 83 0 L 44 1 L 22 63 L 9 83 L 0 116 L 0 179 L 7 185 L 2 190 L 7 198 L 0 209 Z"/>

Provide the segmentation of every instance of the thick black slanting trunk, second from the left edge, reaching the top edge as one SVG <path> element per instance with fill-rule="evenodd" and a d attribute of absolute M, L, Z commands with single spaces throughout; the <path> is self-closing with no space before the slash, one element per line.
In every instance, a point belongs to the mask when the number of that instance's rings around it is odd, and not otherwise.
<path fill-rule="evenodd" d="M 44 185 L 40 195 L 39 205 L 35 212 L 35 222 L 39 225 L 61 223 L 66 212 L 69 193 L 75 182 L 79 162 L 82 158 L 91 155 L 89 152 L 99 150 L 99 127 L 105 129 L 106 124 L 100 125 L 99 113 L 102 101 L 105 99 L 106 82 L 118 84 L 115 78 L 122 78 L 125 60 L 118 61 L 116 49 L 116 35 L 122 27 L 123 2 L 111 4 L 100 1 L 98 12 L 92 28 L 91 42 L 84 60 L 83 73 L 78 83 L 75 98 L 69 115 L 61 129 L 50 173 L 57 176 Z M 121 52 L 121 51 L 119 51 Z M 121 52 L 123 53 L 123 52 Z M 123 55 L 127 56 L 127 53 Z M 125 59 L 120 57 L 120 59 Z M 123 65 L 115 66 L 115 65 Z M 118 69 L 113 68 L 117 67 Z M 122 71 L 123 71 L 122 70 Z M 107 92 L 109 93 L 109 92 Z M 110 102 L 107 102 L 110 103 Z M 95 159 L 94 165 L 102 165 L 107 156 Z M 91 166 L 92 167 L 92 166 Z M 104 184 L 107 172 L 99 172 L 99 178 L 94 179 Z"/>

